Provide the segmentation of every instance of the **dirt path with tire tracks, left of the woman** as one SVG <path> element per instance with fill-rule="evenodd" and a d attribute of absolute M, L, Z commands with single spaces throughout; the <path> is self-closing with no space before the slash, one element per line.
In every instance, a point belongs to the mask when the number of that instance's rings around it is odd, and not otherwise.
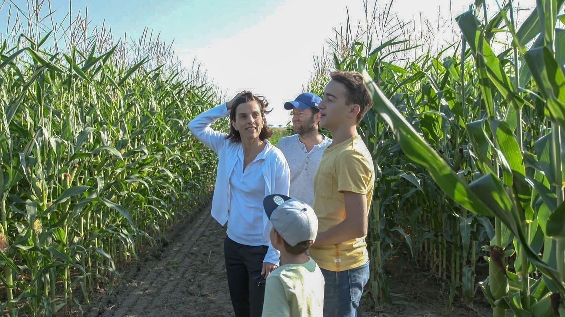
<path fill-rule="evenodd" d="M 225 277 L 224 237 L 210 206 L 178 234 L 158 259 L 140 261 L 123 272 L 114 293 L 93 305 L 86 316 L 231 316 Z"/>

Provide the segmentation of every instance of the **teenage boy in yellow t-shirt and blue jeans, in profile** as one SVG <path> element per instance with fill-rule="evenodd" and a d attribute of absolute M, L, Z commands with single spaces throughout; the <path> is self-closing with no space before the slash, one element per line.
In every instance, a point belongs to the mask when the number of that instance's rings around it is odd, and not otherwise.
<path fill-rule="evenodd" d="M 318 236 L 310 257 L 325 279 L 324 316 L 356 316 L 369 279 L 367 210 L 375 187 L 371 153 L 357 125 L 372 106 L 363 76 L 337 71 L 318 105 L 320 126 L 332 133 L 314 179 Z"/>

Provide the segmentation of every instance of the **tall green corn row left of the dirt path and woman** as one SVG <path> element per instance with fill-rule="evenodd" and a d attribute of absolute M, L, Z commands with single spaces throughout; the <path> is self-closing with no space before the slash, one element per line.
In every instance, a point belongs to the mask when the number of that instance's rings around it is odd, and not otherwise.
<path fill-rule="evenodd" d="M 0 312 L 10 316 L 89 302 L 116 263 L 206 204 L 215 173 L 186 128 L 218 103 L 201 74 L 116 56 L 123 43 L 55 51 L 54 34 L 0 47 Z"/>

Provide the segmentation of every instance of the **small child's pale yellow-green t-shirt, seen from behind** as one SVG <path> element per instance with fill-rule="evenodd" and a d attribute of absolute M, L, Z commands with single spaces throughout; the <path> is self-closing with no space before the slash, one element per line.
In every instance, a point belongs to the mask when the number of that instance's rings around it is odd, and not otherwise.
<path fill-rule="evenodd" d="M 316 262 L 286 264 L 267 276 L 263 316 L 324 315 L 324 276 Z"/>

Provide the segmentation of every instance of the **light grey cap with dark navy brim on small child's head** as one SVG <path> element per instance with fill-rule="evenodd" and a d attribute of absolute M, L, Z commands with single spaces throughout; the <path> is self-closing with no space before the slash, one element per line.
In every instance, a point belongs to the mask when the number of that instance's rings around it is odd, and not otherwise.
<path fill-rule="evenodd" d="M 318 217 L 306 202 L 285 195 L 269 195 L 263 199 L 267 217 L 282 239 L 291 246 L 316 240 Z"/>

